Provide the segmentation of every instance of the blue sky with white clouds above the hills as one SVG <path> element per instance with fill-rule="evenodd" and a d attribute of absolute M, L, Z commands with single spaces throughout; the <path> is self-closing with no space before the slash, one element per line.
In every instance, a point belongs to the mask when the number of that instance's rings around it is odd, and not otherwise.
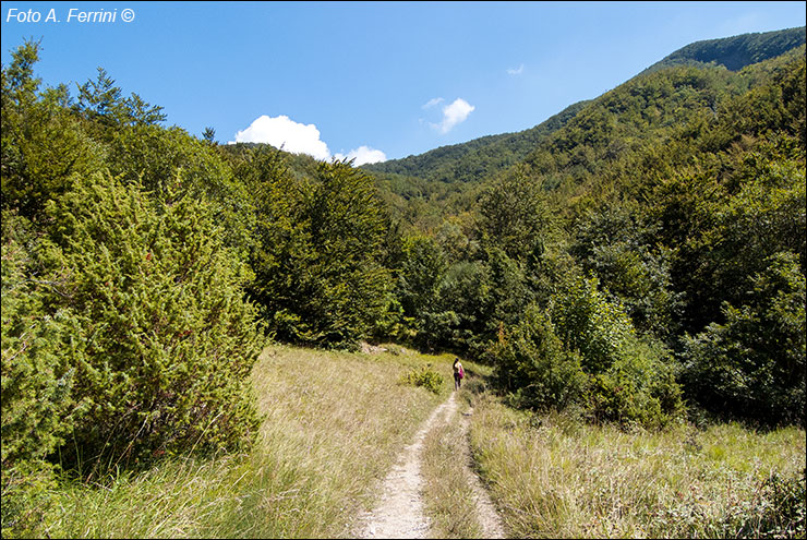
<path fill-rule="evenodd" d="M 803 25 L 803 1 L 2 2 L 1 40 L 8 65 L 41 39 L 46 85 L 103 67 L 194 135 L 360 164 L 531 128 L 692 41 Z"/>

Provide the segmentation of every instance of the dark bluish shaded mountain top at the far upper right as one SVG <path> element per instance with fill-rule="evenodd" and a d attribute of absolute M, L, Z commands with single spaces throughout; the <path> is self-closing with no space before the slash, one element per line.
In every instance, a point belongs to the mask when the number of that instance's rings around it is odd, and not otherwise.
<path fill-rule="evenodd" d="M 774 58 L 805 43 L 805 26 L 783 31 L 743 34 L 722 39 L 707 39 L 683 47 L 654 63 L 646 72 L 671 65 L 715 63 L 731 71 Z"/>

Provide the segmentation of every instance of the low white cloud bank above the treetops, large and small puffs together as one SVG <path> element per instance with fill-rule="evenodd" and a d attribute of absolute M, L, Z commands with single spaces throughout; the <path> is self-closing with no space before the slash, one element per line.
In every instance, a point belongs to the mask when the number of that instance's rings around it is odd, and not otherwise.
<path fill-rule="evenodd" d="M 282 148 L 292 154 L 308 154 L 315 159 L 329 160 L 330 149 L 320 140 L 320 130 L 313 123 L 304 124 L 281 115 L 268 117 L 263 115 L 253 121 L 249 128 L 236 133 L 233 143 L 266 143 Z M 337 159 L 356 159 L 354 166 L 386 161 L 387 156 L 380 149 L 369 146 L 359 146 L 345 154 L 336 154 Z"/>

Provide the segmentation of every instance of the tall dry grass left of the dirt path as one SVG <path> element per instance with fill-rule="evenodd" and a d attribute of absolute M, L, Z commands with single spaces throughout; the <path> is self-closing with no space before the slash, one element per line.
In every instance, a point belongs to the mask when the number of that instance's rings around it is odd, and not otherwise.
<path fill-rule="evenodd" d="M 443 399 L 398 383 L 432 362 L 407 353 L 267 348 L 253 382 L 264 415 L 250 454 L 178 456 L 103 484 L 62 482 L 39 531 L 51 537 L 350 536 L 372 487 Z"/>

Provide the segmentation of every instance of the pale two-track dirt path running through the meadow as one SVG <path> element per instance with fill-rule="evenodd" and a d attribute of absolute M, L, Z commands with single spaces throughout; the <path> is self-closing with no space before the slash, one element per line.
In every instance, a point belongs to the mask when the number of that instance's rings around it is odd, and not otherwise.
<path fill-rule="evenodd" d="M 383 495 L 378 506 L 361 516 L 358 538 L 426 538 L 429 518 L 423 513 L 421 496 L 423 479 L 420 473 L 421 452 L 426 434 L 446 422 L 457 412 L 457 394 L 439 405 L 423 427 L 414 435 L 412 444 L 404 448 L 395 467 L 384 481 Z M 462 419 L 463 432 L 468 429 L 468 419 Z M 470 465 L 470 452 L 466 447 L 467 463 Z M 493 503 L 479 481 L 479 478 L 466 467 L 469 483 L 477 497 L 479 520 L 484 538 L 504 538 L 503 529 Z"/>

